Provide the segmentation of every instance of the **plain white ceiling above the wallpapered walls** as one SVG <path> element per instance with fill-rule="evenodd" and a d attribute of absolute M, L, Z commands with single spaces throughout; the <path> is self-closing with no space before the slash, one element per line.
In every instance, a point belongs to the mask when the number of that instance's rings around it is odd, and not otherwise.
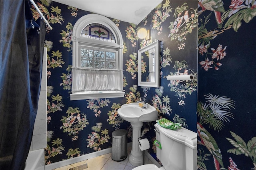
<path fill-rule="evenodd" d="M 139 24 L 162 0 L 53 0 L 124 22 Z"/>

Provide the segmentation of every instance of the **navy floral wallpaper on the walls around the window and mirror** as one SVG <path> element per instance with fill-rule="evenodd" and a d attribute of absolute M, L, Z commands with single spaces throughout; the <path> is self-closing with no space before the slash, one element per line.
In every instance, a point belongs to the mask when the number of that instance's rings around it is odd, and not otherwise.
<path fill-rule="evenodd" d="M 47 29 L 45 38 L 48 47 L 45 164 L 109 148 L 112 132 L 119 128 L 128 130 L 128 142 L 132 142 L 132 127 L 119 117 L 117 110 L 140 97 L 158 110 L 159 119 L 182 123 L 196 132 L 197 78 L 168 81 L 165 76 L 197 74 L 197 1 L 163 1 L 138 25 L 110 18 L 124 40 L 125 95 L 122 99 L 78 101 L 70 101 L 72 29 L 80 17 L 91 12 L 54 1 L 36 3 L 53 28 Z M 39 14 L 33 6 L 31 10 L 37 19 Z M 140 27 L 150 29 L 150 40 L 138 38 Z M 138 49 L 155 40 L 160 40 L 160 87 L 138 87 Z M 142 134 L 155 139 L 155 123 L 144 123 Z M 156 158 L 154 146 L 148 152 Z"/>

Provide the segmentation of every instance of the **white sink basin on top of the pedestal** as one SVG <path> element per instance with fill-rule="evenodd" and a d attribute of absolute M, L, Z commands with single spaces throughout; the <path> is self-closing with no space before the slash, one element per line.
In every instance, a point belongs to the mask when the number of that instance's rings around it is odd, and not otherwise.
<path fill-rule="evenodd" d="M 146 109 L 139 107 L 139 103 L 124 104 L 117 112 L 122 119 L 130 123 L 152 122 L 158 118 L 158 111 L 148 103 L 146 103 Z"/>

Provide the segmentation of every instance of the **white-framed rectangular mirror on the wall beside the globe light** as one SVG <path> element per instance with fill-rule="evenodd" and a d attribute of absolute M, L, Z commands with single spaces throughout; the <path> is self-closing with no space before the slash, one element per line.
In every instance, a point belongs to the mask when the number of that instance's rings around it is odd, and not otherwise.
<path fill-rule="evenodd" d="M 159 40 L 138 50 L 138 85 L 159 87 Z"/>

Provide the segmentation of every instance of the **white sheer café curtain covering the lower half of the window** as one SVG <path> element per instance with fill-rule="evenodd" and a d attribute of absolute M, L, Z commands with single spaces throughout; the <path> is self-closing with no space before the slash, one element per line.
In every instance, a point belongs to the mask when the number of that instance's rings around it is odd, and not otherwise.
<path fill-rule="evenodd" d="M 122 90 L 123 70 L 72 68 L 72 93 Z"/>

